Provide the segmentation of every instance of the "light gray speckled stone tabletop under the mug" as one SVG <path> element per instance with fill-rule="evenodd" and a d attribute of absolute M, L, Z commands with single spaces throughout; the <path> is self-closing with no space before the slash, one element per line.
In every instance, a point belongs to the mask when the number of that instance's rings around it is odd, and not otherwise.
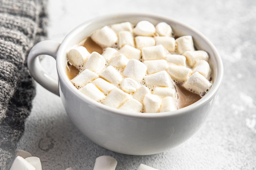
<path fill-rule="evenodd" d="M 61 99 L 37 84 L 18 149 L 40 157 L 43 170 L 92 170 L 101 155 L 117 159 L 117 170 L 136 170 L 140 163 L 159 170 L 256 169 L 256 1 L 54 0 L 48 10 L 49 39 L 58 42 L 81 22 L 107 13 L 175 18 L 215 44 L 225 73 L 215 107 L 200 130 L 180 146 L 149 156 L 122 155 L 97 146 L 72 124 Z M 53 59 L 42 63 L 56 76 Z"/>

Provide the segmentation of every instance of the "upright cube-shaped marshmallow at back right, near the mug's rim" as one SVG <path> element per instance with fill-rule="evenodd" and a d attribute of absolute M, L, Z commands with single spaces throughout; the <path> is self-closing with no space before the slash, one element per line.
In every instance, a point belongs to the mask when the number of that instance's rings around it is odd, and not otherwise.
<path fill-rule="evenodd" d="M 195 51 L 191 35 L 179 37 L 175 41 L 177 43 L 177 51 L 179 54 L 183 54 L 185 51 Z"/>

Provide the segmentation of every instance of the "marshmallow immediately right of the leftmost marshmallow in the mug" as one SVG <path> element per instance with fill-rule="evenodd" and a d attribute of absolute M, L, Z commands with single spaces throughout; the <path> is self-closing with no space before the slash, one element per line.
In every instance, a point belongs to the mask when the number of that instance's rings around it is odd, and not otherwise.
<path fill-rule="evenodd" d="M 102 55 L 97 52 L 92 52 L 87 62 L 85 63 L 84 68 L 99 73 L 105 68 L 106 60 Z"/>

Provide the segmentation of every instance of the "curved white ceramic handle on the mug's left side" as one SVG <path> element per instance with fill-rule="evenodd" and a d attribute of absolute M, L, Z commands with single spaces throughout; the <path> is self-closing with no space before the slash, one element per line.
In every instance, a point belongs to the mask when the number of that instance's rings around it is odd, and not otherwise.
<path fill-rule="evenodd" d="M 45 40 L 38 42 L 36 45 L 32 47 L 29 51 L 27 66 L 31 76 L 38 82 L 41 86 L 43 86 L 48 91 L 60 95 L 58 80 L 51 77 L 47 74 L 39 61 L 40 55 L 49 55 L 56 60 L 56 54 L 60 43 Z"/>

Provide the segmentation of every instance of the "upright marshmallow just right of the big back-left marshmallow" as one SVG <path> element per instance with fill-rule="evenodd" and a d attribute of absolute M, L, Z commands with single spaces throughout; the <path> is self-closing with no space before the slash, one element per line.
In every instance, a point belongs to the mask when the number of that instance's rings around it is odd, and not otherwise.
<path fill-rule="evenodd" d="M 119 48 L 121 48 L 124 45 L 135 46 L 133 34 L 131 32 L 120 31 L 118 33 L 118 37 L 119 37 L 119 40 L 118 40 Z"/>

